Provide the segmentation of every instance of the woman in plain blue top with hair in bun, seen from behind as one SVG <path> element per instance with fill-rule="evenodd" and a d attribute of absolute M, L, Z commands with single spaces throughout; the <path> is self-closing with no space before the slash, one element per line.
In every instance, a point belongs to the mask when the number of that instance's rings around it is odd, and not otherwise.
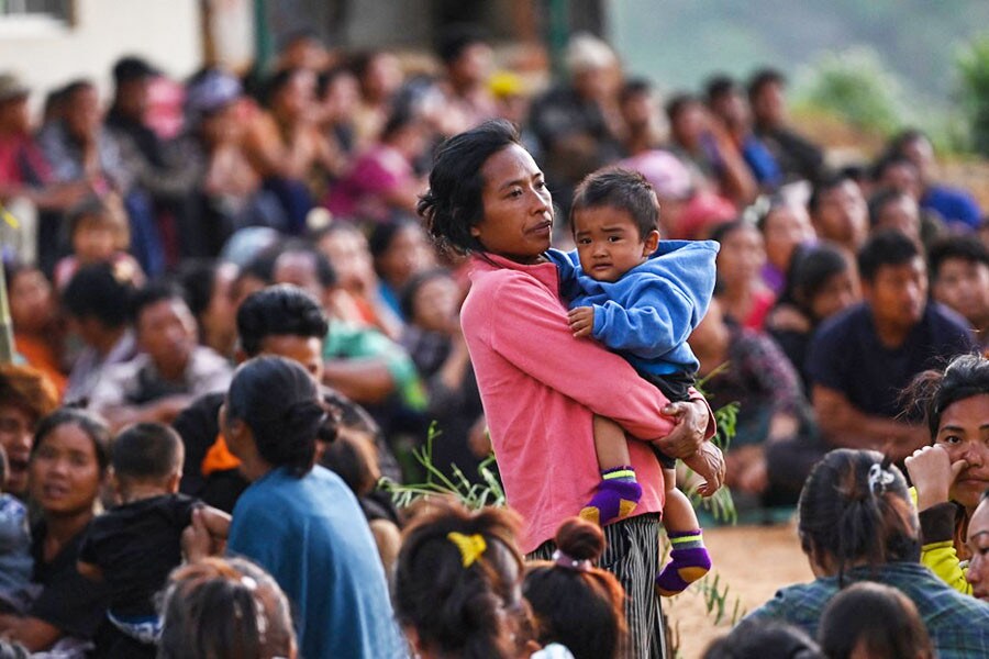
<path fill-rule="evenodd" d="M 357 499 L 315 461 L 326 423 L 319 386 L 299 364 L 258 357 L 237 370 L 220 411 L 223 436 L 251 485 L 233 512 L 229 554 L 257 562 L 292 602 L 307 659 L 399 657 L 385 570 Z M 205 521 L 193 512 L 199 543 Z"/>

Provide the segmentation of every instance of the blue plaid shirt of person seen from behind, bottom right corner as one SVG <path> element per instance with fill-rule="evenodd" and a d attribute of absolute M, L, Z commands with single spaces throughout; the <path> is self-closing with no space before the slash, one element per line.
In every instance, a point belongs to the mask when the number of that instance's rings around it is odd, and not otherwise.
<path fill-rule="evenodd" d="M 989 604 L 959 593 L 915 562 L 853 568 L 845 573 L 846 583 L 864 580 L 891 585 L 913 601 L 941 659 L 989 657 Z M 789 585 L 748 617 L 781 619 L 816 638 L 821 614 L 837 591 L 836 577 Z"/>

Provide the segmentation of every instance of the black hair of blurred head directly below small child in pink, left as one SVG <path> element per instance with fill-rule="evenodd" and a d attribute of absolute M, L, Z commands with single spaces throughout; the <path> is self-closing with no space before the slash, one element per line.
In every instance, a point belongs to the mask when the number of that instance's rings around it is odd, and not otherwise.
<path fill-rule="evenodd" d="M 112 264 L 91 264 L 79 268 L 62 293 L 62 303 L 77 319 L 93 317 L 108 328 L 123 327 L 131 320 L 132 279 Z"/>

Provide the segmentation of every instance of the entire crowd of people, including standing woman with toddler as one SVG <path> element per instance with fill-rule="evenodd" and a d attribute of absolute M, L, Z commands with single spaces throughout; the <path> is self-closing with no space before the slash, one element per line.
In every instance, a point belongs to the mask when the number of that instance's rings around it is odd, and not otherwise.
<path fill-rule="evenodd" d="M 662 657 L 722 483 L 816 580 L 707 656 L 989 655 L 989 223 L 930 141 L 835 168 L 775 70 L 663 116 L 590 35 L 493 62 L 129 56 L 38 123 L 0 74 L 0 656 Z M 492 451 L 511 511 L 379 487 Z"/>

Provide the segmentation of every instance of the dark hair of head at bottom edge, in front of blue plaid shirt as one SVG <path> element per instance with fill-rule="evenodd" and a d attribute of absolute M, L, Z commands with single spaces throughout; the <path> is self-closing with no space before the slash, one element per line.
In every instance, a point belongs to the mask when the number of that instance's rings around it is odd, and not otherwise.
<path fill-rule="evenodd" d="M 818 628 L 829 659 L 849 659 L 865 650 L 877 659 L 933 659 L 934 648 L 916 605 L 898 589 L 860 581 L 838 592 Z"/>

